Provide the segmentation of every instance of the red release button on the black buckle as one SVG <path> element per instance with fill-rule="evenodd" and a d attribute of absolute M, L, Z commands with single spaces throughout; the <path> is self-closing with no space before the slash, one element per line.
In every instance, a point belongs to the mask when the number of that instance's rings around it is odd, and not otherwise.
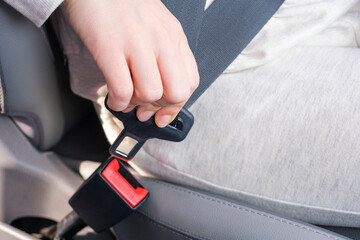
<path fill-rule="evenodd" d="M 136 207 L 149 193 L 142 187 L 136 189 L 119 173 L 120 165 L 117 160 L 111 161 L 101 176 L 129 203 Z"/>

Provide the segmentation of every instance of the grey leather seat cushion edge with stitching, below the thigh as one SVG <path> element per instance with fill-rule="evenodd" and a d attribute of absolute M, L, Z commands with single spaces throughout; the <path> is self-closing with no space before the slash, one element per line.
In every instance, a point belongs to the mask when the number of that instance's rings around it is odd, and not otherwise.
<path fill-rule="evenodd" d="M 240 202 L 158 180 L 140 181 L 150 197 L 139 212 L 196 239 L 347 239 Z"/>

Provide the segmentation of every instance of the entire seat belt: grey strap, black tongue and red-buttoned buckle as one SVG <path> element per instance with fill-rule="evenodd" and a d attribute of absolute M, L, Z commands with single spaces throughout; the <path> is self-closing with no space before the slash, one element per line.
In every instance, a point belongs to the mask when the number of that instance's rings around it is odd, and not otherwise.
<path fill-rule="evenodd" d="M 182 23 L 199 68 L 200 86 L 186 107 L 191 106 L 240 54 L 282 2 L 216 0 L 204 13 L 204 0 L 164 0 Z M 86 225 L 101 232 L 140 207 L 149 193 L 121 161 L 131 160 L 146 139 L 181 141 L 193 123 L 192 115 L 186 109 L 182 109 L 180 120 L 163 129 L 156 127 L 153 119 L 139 122 L 135 110 L 130 113 L 109 111 L 124 123 L 119 141 L 116 140 L 110 148 L 113 157 L 104 162 L 72 196 L 69 203 L 74 212 L 58 223 L 55 239 L 71 237 Z M 126 141 L 134 143 L 131 149 L 123 150 L 121 144 Z"/>

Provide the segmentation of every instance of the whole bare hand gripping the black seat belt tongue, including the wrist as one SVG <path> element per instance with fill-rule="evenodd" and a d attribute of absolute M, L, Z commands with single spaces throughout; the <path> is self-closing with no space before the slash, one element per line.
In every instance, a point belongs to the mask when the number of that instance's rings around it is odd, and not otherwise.
<path fill-rule="evenodd" d="M 160 0 L 65 0 L 70 23 L 108 86 L 108 105 L 169 124 L 199 84 L 178 20 Z"/>

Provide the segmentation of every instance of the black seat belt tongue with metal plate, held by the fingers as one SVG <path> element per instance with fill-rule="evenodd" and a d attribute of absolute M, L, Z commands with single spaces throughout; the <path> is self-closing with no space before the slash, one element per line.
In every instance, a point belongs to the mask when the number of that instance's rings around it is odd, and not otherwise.
<path fill-rule="evenodd" d="M 107 105 L 107 96 L 105 106 L 124 125 L 123 131 L 109 149 L 113 157 L 123 161 L 132 160 L 148 139 L 158 138 L 173 142 L 184 140 L 194 123 L 193 115 L 184 108 L 172 123 L 164 128 L 159 128 L 155 124 L 154 117 L 140 122 L 136 116 L 136 108 L 128 113 L 112 110 Z"/>

